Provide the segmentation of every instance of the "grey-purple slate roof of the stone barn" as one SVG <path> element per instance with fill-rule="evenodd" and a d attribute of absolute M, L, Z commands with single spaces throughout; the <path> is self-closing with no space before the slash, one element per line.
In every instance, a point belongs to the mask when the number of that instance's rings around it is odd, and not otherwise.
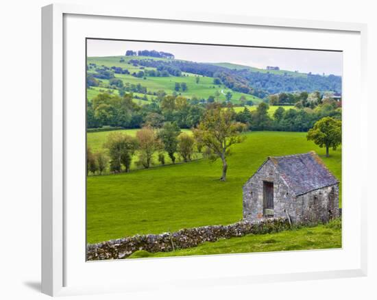
<path fill-rule="evenodd" d="M 339 183 L 315 151 L 274 156 L 269 157 L 269 160 L 275 164 L 296 196 Z"/>

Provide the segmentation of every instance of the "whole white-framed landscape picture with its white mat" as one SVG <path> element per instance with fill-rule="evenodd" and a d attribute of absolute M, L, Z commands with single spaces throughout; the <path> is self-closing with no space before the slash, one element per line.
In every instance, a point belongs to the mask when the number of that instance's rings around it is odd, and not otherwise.
<path fill-rule="evenodd" d="M 42 8 L 42 292 L 366 275 L 365 36 Z"/>

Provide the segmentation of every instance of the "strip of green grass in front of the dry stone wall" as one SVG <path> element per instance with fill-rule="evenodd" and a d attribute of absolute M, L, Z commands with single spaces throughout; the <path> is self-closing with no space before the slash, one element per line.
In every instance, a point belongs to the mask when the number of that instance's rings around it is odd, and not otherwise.
<path fill-rule="evenodd" d="M 204 242 L 197 247 L 172 252 L 136 251 L 129 258 L 162 258 L 167 256 L 210 255 L 341 248 L 340 221 L 326 225 L 287 230 L 273 234 L 250 234 L 241 238 Z"/>

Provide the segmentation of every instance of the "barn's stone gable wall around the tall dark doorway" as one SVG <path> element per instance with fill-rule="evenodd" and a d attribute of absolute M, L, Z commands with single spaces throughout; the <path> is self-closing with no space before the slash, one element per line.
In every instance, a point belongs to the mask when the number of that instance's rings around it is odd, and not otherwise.
<path fill-rule="evenodd" d="M 295 218 L 295 195 L 284 182 L 271 160 L 267 162 L 243 186 L 243 218 L 263 218 L 263 182 L 273 182 L 273 216 Z M 287 210 L 287 212 L 286 212 Z"/>

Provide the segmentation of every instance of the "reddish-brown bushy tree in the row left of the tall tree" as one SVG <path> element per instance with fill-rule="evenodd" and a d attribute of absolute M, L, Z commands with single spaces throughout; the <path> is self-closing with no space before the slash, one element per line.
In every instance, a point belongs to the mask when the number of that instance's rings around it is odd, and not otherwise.
<path fill-rule="evenodd" d="M 156 135 L 156 132 L 151 127 L 143 127 L 136 132 L 138 140 L 139 161 L 144 168 L 149 168 L 152 163 L 152 158 L 156 151 L 162 148 L 161 142 Z"/>

